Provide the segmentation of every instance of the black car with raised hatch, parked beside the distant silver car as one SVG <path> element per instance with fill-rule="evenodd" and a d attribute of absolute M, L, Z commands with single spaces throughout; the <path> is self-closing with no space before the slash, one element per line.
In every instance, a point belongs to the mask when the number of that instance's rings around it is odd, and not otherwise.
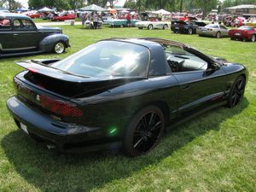
<path fill-rule="evenodd" d="M 172 21 L 171 30 L 175 33 L 187 33 L 187 34 L 195 34 L 196 28 L 198 26 L 206 26 L 207 24 L 202 21 L 198 20 L 190 20 L 190 21 L 183 21 L 177 20 Z"/>

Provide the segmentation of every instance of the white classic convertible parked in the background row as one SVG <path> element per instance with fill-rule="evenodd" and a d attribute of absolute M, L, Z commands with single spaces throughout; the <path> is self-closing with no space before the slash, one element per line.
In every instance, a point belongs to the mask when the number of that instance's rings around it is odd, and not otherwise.
<path fill-rule="evenodd" d="M 169 21 L 138 21 L 135 26 L 138 29 L 147 28 L 148 30 L 152 29 L 168 29 L 170 28 Z"/>

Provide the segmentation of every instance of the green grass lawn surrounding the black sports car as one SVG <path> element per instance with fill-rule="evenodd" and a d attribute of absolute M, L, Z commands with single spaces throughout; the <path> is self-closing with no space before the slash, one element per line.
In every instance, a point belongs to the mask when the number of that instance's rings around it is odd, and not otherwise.
<path fill-rule="evenodd" d="M 72 47 L 63 55 L 0 60 L 0 191 L 255 191 L 256 43 L 199 38 L 169 30 L 61 26 Z M 64 58 L 102 38 L 167 38 L 243 63 L 250 77 L 236 108 L 217 108 L 170 131 L 137 158 L 122 153 L 56 154 L 19 131 L 5 102 L 15 94 L 15 61 Z"/>

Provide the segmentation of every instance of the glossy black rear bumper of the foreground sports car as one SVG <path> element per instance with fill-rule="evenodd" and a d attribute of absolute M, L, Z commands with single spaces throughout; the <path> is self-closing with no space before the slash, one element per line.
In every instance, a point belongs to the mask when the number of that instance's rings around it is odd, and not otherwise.
<path fill-rule="evenodd" d="M 101 127 L 87 127 L 60 122 L 39 113 L 15 96 L 7 101 L 9 113 L 16 125 L 26 126 L 28 135 L 55 146 L 61 152 L 89 152 L 108 148 L 119 148 L 116 138 L 104 137 Z"/>

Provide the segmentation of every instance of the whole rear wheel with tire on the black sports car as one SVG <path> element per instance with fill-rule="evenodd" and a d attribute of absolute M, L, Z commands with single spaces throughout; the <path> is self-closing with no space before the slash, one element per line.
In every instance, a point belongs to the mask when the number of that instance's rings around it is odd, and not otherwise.
<path fill-rule="evenodd" d="M 125 130 L 125 154 L 136 157 L 148 153 L 159 143 L 164 127 L 165 118 L 160 108 L 148 106 L 138 111 Z"/>

